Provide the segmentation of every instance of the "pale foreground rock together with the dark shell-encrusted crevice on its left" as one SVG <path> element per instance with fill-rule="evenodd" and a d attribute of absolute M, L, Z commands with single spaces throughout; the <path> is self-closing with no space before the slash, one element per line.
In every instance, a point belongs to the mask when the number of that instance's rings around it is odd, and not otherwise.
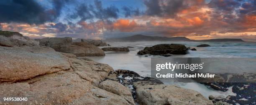
<path fill-rule="evenodd" d="M 129 87 L 133 98 L 141 105 L 213 105 L 195 90 L 175 85 L 164 85 L 151 77 L 141 77 L 136 72 L 117 70 L 119 81 Z"/>

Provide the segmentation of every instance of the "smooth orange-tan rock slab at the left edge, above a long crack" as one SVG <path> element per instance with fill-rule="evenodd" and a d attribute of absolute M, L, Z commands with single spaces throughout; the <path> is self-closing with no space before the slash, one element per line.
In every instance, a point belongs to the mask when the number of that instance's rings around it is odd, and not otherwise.
<path fill-rule="evenodd" d="M 63 55 L 49 47 L 0 46 L 0 82 L 27 80 L 38 75 L 69 70 Z"/>

